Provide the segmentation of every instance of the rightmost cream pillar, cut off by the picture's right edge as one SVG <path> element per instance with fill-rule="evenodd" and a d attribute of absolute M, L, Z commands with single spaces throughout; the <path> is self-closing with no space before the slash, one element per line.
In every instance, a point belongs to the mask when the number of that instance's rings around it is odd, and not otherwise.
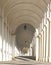
<path fill-rule="evenodd" d="M 48 35 L 49 35 L 49 39 L 48 39 L 48 58 L 49 58 L 49 62 L 51 62 L 51 18 L 48 19 Z"/>

